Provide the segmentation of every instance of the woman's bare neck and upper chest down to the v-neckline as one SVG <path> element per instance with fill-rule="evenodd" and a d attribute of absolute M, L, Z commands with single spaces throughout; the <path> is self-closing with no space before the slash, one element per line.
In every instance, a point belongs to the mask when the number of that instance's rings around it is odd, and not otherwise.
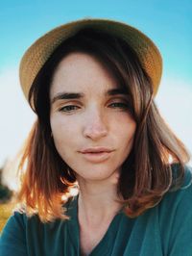
<path fill-rule="evenodd" d="M 122 205 L 118 202 L 116 178 L 113 177 L 109 182 L 78 181 L 80 244 L 83 255 L 88 255 L 105 236 L 110 222 Z"/>

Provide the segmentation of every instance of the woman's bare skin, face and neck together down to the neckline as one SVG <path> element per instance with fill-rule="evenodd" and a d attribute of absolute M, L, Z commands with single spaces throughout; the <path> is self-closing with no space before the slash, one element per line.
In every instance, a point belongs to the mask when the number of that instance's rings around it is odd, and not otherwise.
<path fill-rule="evenodd" d="M 136 123 L 128 95 L 118 89 L 118 82 L 104 65 L 80 52 L 64 57 L 51 85 L 55 145 L 80 185 L 78 216 L 84 253 L 102 239 L 122 207 L 115 201 L 116 184 L 132 149 Z M 111 90 L 113 95 L 108 93 Z M 68 98 L 66 93 L 78 94 Z M 87 148 L 100 151 L 84 153 Z"/>

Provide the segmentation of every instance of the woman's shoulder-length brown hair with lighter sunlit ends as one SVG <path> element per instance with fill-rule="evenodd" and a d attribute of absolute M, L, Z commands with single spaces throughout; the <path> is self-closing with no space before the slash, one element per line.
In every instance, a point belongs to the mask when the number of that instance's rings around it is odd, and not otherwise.
<path fill-rule="evenodd" d="M 23 174 L 18 200 L 26 204 L 28 215 L 37 213 L 41 221 L 67 218 L 63 197 L 69 196 L 77 181 L 52 138 L 50 87 L 60 61 L 71 52 L 90 54 L 106 65 L 131 99 L 136 131 L 132 151 L 121 169 L 117 192 L 125 213 L 137 217 L 155 206 L 165 192 L 180 187 L 189 155 L 158 113 L 152 82 L 136 53 L 122 39 L 90 29 L 62 42 L 32 85 L 29 101 L 37 119 L 19 166 Z M 177 173 L 173 171 L 173 163 L 177 163 Z"/>

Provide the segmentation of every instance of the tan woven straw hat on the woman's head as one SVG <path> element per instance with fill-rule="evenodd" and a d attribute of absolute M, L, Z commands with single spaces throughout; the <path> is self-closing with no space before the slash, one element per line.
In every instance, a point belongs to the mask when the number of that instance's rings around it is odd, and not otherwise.
<path fill-rule="evenodd" d="M 128 24 L 108 19 L 88 18 L 66 23 L 51 30 L 41 38 L 38 38 L 26 51 L 20 63 L 19 77 L 21 88 L 27 99 L 38 71 L 54 50 L 63 40 L 74 36 L 77 32 L 87 27 L 96 28 L 127 41 L 137 53 L 149 77 L 151 77 L 154 94 L 156 94 L 162 73 L 162 59 L 155 43 Z"/>

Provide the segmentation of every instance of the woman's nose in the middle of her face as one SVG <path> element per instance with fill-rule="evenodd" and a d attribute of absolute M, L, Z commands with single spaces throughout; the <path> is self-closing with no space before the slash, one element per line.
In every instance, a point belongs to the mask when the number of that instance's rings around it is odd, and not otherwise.
<path fill-rule="evenodd" d="M 98 111 L 92 111 L 84 121 L 84 137 L 93 141 L 99 140 L 108 134 L 107 119 Z"/>

